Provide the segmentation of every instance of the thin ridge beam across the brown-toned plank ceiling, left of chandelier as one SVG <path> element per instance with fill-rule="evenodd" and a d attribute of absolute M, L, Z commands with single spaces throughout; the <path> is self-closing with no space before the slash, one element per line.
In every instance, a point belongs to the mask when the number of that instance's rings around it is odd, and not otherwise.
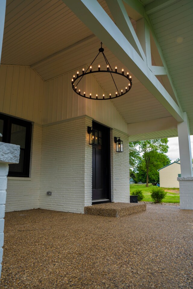
<path fill-rule="evenodd" d="M 46 58 L 43 58 L 40 61 L 37 61 L 36 63 L 31 64 L 30 68 L 35 69 L 35 67 L 39 66 L 40 64 L 43 64 L 44 62 L 46 62 L 46 61 L 48 61 L 54 57 L 58 57 L 59 55 L 63 54 L 64 52 L 66 52 L 66 51 L 68 51 L 74 47 L 78 47 L 83 43 L 87 43 L 88 41 L 90 41 L 90 39 L 93 39 L 93 38 L 96 38 L 96 36 L 94 34 L 87 36 L 86 38 L 81 39 L 80 41 L 75 42 L 75 43 L 69 45 L 68 47 L 63 48 L 62 50 L 57 51 L 57 52 L 47 56 Z"/>

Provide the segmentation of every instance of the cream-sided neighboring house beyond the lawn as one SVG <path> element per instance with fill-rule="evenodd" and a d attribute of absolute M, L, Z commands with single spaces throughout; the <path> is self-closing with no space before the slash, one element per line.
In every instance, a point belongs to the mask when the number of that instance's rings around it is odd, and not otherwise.
<path fill-rule="evenodd" d="M 181 177 L 180 160 L 158 169 L 160 173 L 160 187 L 179 188 L 178 177 Z"/>

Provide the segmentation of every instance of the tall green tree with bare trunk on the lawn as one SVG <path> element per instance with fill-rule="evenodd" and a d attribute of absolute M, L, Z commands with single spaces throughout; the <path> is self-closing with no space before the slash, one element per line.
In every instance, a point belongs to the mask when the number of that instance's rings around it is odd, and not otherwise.
<path fill-rule="evenodd" d="M 142 167 L 145 167 L 146 170 L 146 187 L 148 187 L 149 183 L 150 169 L 152 170 L 153 167 L 155 167 L 154 166 L 155 162 L 157 162 L 158 157 L 157 153 L 166 153 L 169 148 L 167 143 L 168 143 L 167 138 L 140 141 L 139 143 L 139 152 L 143 153 L 141 165 Z"/>

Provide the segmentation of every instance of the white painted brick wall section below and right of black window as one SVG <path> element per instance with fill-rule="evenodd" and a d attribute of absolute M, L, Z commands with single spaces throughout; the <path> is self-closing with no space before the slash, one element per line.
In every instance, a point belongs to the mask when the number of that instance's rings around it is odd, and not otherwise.
<path fill-rule="evenodd" d="M 30 178 L 8 177 L 5 211 L 39 208 L 42 127 L 34 125 L 31 143 Z"/>

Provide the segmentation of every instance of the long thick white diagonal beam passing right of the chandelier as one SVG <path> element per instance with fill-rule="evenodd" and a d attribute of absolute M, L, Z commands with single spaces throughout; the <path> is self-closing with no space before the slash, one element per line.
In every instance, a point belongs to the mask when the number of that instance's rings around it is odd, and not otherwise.
<path fill-rule="evenodd" d="M 96 0 L 63 0 L 63 2 L 134 73 L 177 121 L 183 121 L 182 108 L 172 99 Z"/>

